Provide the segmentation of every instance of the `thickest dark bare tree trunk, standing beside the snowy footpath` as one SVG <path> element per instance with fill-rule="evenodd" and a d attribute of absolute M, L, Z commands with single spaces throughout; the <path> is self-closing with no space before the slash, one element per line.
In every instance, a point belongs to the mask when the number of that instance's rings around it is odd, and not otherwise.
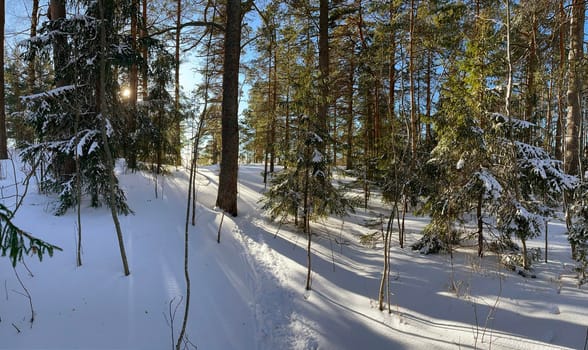
<path fill-rule="evenodd" d="M 222 102 L 222 156 L 216 205 L 237 216 L 239 172 L 239 60 L 241 56 L 241 2 L 227 1 L 224 40 Z"/>

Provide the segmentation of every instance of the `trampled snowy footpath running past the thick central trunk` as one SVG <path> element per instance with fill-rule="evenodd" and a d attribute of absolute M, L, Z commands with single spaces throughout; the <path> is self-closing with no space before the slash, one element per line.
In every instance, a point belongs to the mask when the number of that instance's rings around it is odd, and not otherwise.
<path fill-rule="evenodd" d="M 216 185 L 210 169 L 200 170 L 206 183 Z M 294 311 L 293 300 L 302 295 L 292 289 L 288 266 L 266 243 L 271 237 L 261 229 L 259 208 L 263 185 L 259 184 L 259 167 L 241 166 L 239 180 L 239 216 L 225 217 L 224 230 L 243 244 L 246 260 L 252 275 L 248 277 L 253 289 L 254 314 L 257 321 L 258 349 L 316 349 L 318 344 L 308 322 Z M 200 197 L 207 207 L 214 205 L 215 197 Z M 271 239 L 271 238 L 269 238 Z M 224 239 L 221 238 L 221 245 Z M 300 294 L 300 293 L 298 293 Z"/>

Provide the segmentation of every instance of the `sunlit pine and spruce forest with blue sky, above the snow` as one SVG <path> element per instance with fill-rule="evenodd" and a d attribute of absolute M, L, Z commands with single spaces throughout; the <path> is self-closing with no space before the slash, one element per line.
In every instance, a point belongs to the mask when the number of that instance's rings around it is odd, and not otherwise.
<path fill-rule="evenodd" d="M 425 250 L 451 251 L 468 218 L 480 257 L 489 240 L 516 238 L 528 270 L 527 240 L 563 211 L 585 271 L 585 10 L 582 0 L 10 2 L 0 157 L 10 144 L 59 196 L 57 215 L 89 198 L 115 223 L 132 212 L 116 159 L 156 174 L 220 164 L 216 205 L 233 216 L 239 162 L 263 163 L 264 209 L 292 219 L 309 251 L 312 221 L 378 192 L 391 209 L 384 241 L 413 211 L 431 217 Z M 338 172 L 355 181 L 336 185 Z M 23 247 L 5 250 L 16 262 Z"/>

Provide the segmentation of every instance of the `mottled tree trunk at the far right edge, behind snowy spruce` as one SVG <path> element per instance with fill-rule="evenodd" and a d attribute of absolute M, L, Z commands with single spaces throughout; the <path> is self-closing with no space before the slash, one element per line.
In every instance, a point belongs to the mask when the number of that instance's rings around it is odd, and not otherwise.
<path fill-rule="evenodd" d="M 577 174 L 580 160 L 579 131 L 582 118 L 582 59 L 584 56 L 584 18 L 586 3 L 584 0 L 572 1 L 570 18 L 570 51 L 568 53 L 568 114 L 566 117 L 564 170 L 568 174 Z"/>

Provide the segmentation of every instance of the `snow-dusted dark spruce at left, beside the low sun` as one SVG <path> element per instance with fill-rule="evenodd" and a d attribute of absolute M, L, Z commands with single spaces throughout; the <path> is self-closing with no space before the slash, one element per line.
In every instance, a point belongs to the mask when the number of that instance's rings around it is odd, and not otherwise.
<path fill-rule="evenodd" d="M 136 59 L 126 37 L 116 34 L 109 20 L 97 19 L 96 6 L 96 3 L 89 4 L 83 15 L 45 22 L 39 35 L 26 42 L 26 54 L 35 51 L 37 57 L 46 57 L 57 36 L 67 39 L 67 63 L 56 67 L 55 71 L 56 81 L 66 82 L 66 85 L 22 98 L 26 104 L 26 121 L 33 126 L 37 139 L 23 147 L 21 155 L 26 161 L 42 159 L 47 163 L 47 177 L 42 186 L 59 195 L 57 215 L 65 213 L 77 201 L 76 156 L 80 159 L 83 192 L 90 195 L 92 206 L 101 205 L 108 191 L 108 170 L 100 133 L 101 118 L 106 114 L 100 112 L 100 101 L 106 99 L 111 109 L 107 115 L 116 115 L 119 89 L 111 76 L 106 82 L 108 93 L 106 96 L 99 94 L 100 27 L 109 33 L 110 46 L 105 58 L 108 62 L 120 65 Z M 111 139 L 116 136 L 116 130 L 122 128 L 121 119 L 106 120 Z M 117 210 L 122 214 L 130 213 L 124 192 L 118 186 L 115 197 Z"/>

